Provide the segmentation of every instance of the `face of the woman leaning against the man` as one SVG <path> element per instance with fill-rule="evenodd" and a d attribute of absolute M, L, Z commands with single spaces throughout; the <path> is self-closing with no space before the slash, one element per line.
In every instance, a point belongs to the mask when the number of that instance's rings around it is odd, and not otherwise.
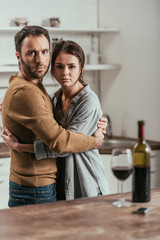
<path fill-rule="evenodd" d="M 54 65 L 54 77 L 63 89 L 69 89 L 77 82 L 81 73 L 81 66 L 76 56 L 61 52 Z"/>

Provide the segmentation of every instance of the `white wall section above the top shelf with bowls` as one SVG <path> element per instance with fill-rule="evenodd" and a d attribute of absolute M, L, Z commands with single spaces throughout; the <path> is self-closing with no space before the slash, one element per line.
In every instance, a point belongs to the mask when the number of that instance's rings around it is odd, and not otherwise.
<path fill-rule="evenodd" d="M 27 17 L 29 25 L 48 25 L 50 17 L 60 17 L 63 28 L 97 24 L 97 0 L 1 0 L 0 26 L 9 26 L 16 17 Z"/>

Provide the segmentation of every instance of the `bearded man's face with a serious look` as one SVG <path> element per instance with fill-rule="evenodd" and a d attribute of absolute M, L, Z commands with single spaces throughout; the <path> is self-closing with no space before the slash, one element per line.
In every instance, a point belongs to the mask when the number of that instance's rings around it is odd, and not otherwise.
<path fill-rule="evenodd" d="M 29 80 L 42 79 L 48 72 L 50 63 L 49 42 L 44 35 L 27 36 L 16 53 L 22 75 Z"/>

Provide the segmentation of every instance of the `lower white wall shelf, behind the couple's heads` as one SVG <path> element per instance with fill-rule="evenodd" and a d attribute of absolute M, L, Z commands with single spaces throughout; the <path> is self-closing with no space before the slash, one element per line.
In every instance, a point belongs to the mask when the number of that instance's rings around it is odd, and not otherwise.
<path fill-rule="evenodd" d="M 95 65 L 86 64 L 84 66 L 85 71 L 102 71 L 102 70 L 118 70 L 118 69 L 120 69 L 120 65 L 118 64 L 95 64 Z M 0 66 L 1 73 L 16 73 L 18 71 L 19 69 L 17 65 Z"/>

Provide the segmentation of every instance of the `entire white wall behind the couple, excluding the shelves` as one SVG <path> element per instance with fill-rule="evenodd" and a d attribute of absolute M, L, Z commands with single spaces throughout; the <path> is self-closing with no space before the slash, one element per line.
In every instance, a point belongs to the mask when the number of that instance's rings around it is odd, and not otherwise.
<path fill-rule="evenodd" d="M 101 39 L 107 62 L 121 64 L 120 71 L 100 74 L 103 111 L 111 116 L 114 135 L 136 137 L 136 122 L 144 119 L 146 138 L 160 140 L 159 0 L 1 0 L 0 26 L 9 26 L 20 16 L 43 26 L 56 16 L 64 28 L 94 28 L 97 22 L 99 27 L 118 27 L 120 33 L 104 34 Z M 87 53 L 89 43 L 79 36 L 74 39 L 86 46 Z M 0 62 L 15 61 L 13 34 L 0 36 L 0 48 Z M 8 84 L 9 75 L 0 74 L 0 86 Z M 87 73 L 86 79 L 98 93 L 98 74 Z M 45 81 L 51 81 L 49 74 Z"/>

